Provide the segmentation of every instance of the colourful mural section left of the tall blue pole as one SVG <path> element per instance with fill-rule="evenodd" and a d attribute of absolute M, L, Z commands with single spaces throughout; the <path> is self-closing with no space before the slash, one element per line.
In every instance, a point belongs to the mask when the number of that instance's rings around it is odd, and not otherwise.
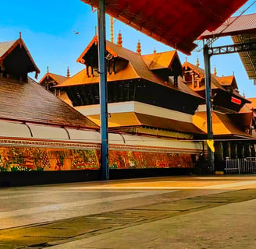
<path fill-rule="evenodd" d="M 0 171 L 99 169 L 96 149 L 0 147 Z"/>

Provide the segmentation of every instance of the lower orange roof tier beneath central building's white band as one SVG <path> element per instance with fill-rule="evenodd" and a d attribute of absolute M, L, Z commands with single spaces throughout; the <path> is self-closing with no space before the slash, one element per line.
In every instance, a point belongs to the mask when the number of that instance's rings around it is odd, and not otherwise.
<path fill-rule="evenodd" d="M 88 115 L 91 121 L 100 125 L 100 115 Z M 197 126 L 192 123 L 177 121 L 171 118 L 156 117 L 148 114 L 140 114 L 136 112 L 114 113 L 108 117 L 109 128 L 124 128 L 146 126 L 151 128 L 162 128 L 178 132 L 186 132 L 193 134 L 203 134 Z"/>

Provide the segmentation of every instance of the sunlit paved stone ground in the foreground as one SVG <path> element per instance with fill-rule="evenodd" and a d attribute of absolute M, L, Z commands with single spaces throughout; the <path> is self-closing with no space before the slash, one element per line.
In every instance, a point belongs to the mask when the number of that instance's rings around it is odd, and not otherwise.
<path fill-rule="evenodd" d="M 256 247 L 256 175 L 0 188 L 0 248 Z"/>

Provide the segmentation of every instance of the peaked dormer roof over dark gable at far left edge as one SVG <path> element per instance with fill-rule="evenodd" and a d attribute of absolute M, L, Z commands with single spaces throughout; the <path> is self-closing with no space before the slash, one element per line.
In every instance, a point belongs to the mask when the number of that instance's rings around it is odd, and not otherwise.
<path fill-rule="evenodd" d="M 0 43 L 0 66 L 4 68 L 3 61 L 5 60 L 6 56 L 8 56 L 13 51 L 13 49 L 15 49 L 17 46 L 24 47 L 25 51 L 27 52 L 27 56 L 30 58 L 30 62 L 33 68 L 29 72 L 36 72 L 36 78 L 37 78 L 37 74 L 40 73 L 40 70 L 37 68 L 37 65 L 34 63 L 34 60 L 30 54 L 30 51 L 28 51 L 26 44 L 23 42 L 21 38 L 17 40 L 5 41 Z"/>

